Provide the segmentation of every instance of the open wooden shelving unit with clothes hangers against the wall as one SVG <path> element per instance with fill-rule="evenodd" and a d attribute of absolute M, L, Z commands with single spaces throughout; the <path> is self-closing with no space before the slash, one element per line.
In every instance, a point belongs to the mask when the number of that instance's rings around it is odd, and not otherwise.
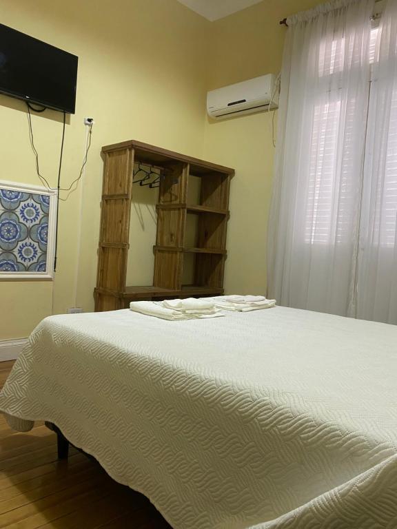
<path fill-rule="evenodd" d="M 222 294 L 234 169 L 133 140 L 103 147 L 102 153 L 105 168 L 95 310 L 123 309 L 132 300 Z M 162 169 L 152 286 L 125 284 L 134 163 Z M 192 178 L 199 178 L 197 203 L 188 198 Z M 198 217 L 194 245 L 186 241 L 190 215 Z M 194 258 L 193 284 L 183 284 L 187 254 Z"/>

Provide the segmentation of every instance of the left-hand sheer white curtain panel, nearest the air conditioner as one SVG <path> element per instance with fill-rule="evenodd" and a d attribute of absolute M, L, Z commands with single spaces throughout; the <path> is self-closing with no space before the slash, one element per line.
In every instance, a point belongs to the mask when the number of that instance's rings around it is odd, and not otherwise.
<path fill-rule="evenodd" d="M 358 311 L 373 9 L 374 0 L 335 0 L 287 21 L 268 238 L 269 297 L 282 305 Z M 383 183 L 372 187 L 365 200 L 381 202 Z M 374 259 L 365 256 L 367 274 Z"/>

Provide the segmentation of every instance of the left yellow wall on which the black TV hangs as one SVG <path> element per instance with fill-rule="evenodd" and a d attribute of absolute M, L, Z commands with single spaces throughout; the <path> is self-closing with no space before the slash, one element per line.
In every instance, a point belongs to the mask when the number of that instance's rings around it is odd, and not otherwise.
<path fill-rule="evenodd" d="M 0 0 L 0 12 L 1 23 L 79 56 L 77 112 L 66 130 L 62 182 L 70 183 L 79 173 L 83 116 L 93 116 L 77 298 L 77 304 L 92 310 L 101 146 L 135 138 L 201 157 L 211 25 L 176 0 Z M 51 185 L 57 182 L 60 119 L 61 114 L 49 111 L 32 117 L 41 169 Z M 6 96 L 0 96 L 0 160 L 0 179 L 39 183 L 24 104 Z M 79 200 L 80 189 L 60 206 L 54 284 L 0 282 L 0 340 L 27 336 L 52 312 L 52 295 L 54 313 L 74 306 Z M 144 208 L 143 213 L 150 227 L 150 214 Z M 139 238 L 140 227 L 136 219 L 133 223 Z"/>

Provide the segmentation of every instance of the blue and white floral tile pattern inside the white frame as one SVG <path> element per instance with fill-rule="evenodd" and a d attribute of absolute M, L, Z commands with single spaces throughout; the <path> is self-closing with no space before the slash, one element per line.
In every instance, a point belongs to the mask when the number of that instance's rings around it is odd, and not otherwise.
<path fill-rule="evenodd" d="M 46 272 L 50 196 L 0 187 L 0 272 Z"/>

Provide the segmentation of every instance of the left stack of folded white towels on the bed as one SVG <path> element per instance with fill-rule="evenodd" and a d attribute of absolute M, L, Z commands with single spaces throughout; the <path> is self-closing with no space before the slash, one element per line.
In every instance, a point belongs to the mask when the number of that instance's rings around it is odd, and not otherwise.
<path fill-rule="evenodd" d="M 148 316 L 163 320 L 196 320 L 201 318 L 218 318 L 223 316 L 221 309 L 212 300 L 164 300 L 164 301 L 133 301 L 130 309 Z"/>

